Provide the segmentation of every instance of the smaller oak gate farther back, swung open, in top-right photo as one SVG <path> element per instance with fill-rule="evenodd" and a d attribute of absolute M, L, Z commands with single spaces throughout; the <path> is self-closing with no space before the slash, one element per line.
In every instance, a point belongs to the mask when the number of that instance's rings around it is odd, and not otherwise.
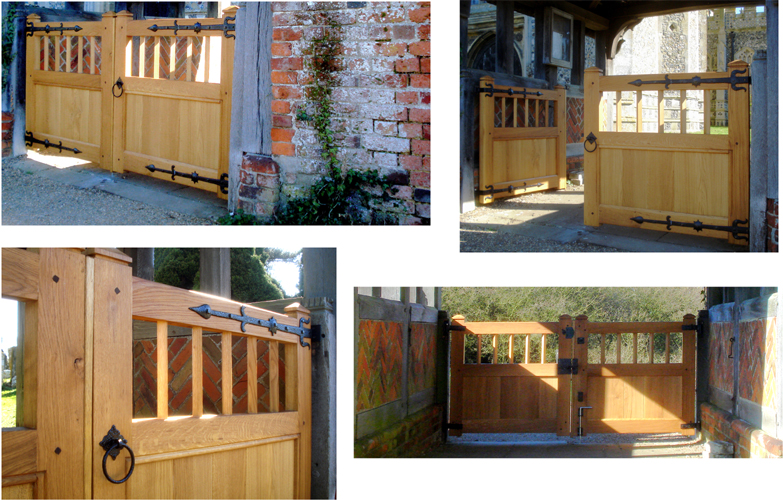
<path fill-rule="evenodd" d="M 478 202 L 566 186 L 565 87 L 494 85 L 481 79 Z"/>

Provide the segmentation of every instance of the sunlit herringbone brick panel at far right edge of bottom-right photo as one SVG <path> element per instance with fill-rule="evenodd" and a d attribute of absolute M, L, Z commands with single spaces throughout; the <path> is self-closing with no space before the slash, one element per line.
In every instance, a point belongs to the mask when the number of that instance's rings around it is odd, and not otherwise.
<path fill-rule="evenodd" d="M 775 407 L 775 321 L 740 323 L 739 395 L 763 406 Z"/>

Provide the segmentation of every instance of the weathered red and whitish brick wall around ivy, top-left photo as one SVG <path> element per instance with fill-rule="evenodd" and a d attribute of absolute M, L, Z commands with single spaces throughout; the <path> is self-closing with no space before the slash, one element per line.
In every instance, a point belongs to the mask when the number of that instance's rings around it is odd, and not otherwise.
<path fill-rule="evenodd" d="M 343 32 L 333 124 L 344 168 L 391 175 L 401 223 L 429 223 L 429 3 L 273 2 L 272 11 L 272 155 L 283 197 L 324 173 L 312 126 L 297 111 L 305 106 L 304 53 L 328 12 Z"/>

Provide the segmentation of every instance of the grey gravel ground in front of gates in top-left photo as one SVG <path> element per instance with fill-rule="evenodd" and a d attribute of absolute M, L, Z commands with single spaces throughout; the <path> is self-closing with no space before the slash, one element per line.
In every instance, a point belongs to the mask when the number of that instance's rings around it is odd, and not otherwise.
<path fill-rule="evenodd" d="M 4 225 L 206 225 L 209 219 L 161 210 L 97 189 L 30 175 L 3 162 Z"/>

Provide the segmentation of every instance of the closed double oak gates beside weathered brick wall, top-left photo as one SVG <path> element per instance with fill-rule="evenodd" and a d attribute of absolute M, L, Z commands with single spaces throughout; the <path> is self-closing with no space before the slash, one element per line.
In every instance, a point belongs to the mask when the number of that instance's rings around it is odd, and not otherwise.
<path fill-rule="evenodd" d="M 221 19 L 146 21 L 109 12 L 100 22 L 62 23 L 64 31 L 28 16 L 31 27 L 42 29 L 28 32 L 28 146 L 226 198 L 227 184 L 200 178 L 194 184 L 192 174 L 227 183 L 229 21 L 236 11 L 225 9 Z"/>

